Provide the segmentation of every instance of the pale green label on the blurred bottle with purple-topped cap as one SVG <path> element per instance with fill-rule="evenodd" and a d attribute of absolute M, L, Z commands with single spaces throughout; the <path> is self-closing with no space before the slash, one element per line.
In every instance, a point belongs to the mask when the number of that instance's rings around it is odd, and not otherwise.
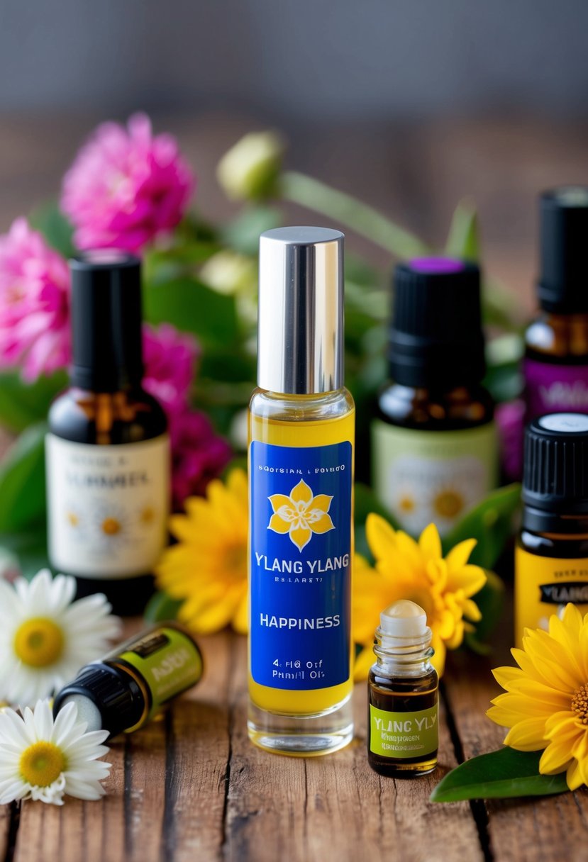
<path fill-rule="evenodd" d="M 461 431 L 372 423 L 373 487 L 407 533 L 435 523 L 447 535 L 496 487 L 494 422 Z"/>

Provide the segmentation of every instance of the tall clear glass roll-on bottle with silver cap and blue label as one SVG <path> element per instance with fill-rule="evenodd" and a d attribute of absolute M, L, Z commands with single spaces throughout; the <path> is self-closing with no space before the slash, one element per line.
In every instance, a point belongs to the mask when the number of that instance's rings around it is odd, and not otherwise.
<path fill-rule="evenodd" d="M 343 234 L 260 238 L 249 409 L 249 737 L 324 754 L 353 737 L 353 399 L 343 386 Z"/>

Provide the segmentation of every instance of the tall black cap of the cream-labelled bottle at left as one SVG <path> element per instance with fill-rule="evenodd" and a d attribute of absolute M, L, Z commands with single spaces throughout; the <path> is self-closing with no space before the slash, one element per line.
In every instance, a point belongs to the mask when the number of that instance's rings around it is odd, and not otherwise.
<path fill-rule="evenodd" d="M 141 261 L 116 249 L 70 260 L 73 386 L 116 392 L 140 384 Z"/>

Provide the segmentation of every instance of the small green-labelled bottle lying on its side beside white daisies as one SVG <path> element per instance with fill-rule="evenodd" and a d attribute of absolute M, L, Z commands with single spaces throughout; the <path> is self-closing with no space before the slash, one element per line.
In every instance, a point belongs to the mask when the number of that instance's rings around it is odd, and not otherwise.
<path fill-rule="evenodd" d="M 191 634 L 177 622 L 160 622 L 85 665 L 55 696 L 53 715 L 75 703 L 86 730 L 108 730 L 109 738 L 130 734 L 202 675 L 202 654 Z"/>

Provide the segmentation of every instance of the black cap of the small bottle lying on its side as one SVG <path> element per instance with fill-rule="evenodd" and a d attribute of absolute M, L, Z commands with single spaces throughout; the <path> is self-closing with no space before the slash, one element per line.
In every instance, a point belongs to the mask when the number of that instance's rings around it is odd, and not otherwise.
<path fill-rule="evenodd" d="M 59 713 L 72 695 L 91 701 L 100 713 L 102 729 L 109 737 L 133 728 L 145 713 L 146 704 L 139 684 L 128 673 L 111 665 L 87 665 L 72 683 L 59 691 L 53 701 L 53 715 Z"/>

